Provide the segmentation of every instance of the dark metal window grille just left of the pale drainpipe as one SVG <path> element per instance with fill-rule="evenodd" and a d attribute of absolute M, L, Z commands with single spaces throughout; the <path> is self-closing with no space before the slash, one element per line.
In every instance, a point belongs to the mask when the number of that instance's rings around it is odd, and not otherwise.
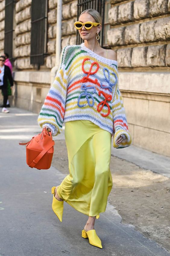
<path fill-rule="evenodd" d="M 47 47 L 47 12 L 48 0 L 31 2 L 31 54 L 30 63 L 44 64 Z"/>

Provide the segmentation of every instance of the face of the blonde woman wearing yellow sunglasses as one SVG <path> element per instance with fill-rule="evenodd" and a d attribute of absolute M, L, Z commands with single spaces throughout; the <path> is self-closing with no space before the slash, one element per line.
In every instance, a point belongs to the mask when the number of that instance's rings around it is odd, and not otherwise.
<path fill-rule="evenodd" d="M 96 22 L 95 19 L 89 13 L 83 13 L 82 15 L 80 15 L 79 21 L 82 23 L 87 22 L 87 21 Z M 93 26 L 91 29 L 87 30 L 83 26 L 81 29 L 79 29 L 80 37 L 83 40 L 89 40 L 89 39 L 96 38 L 96 33 L 99 33 L 101 28 L 102 28 L 102 26 L 98 25 L 96 27 Z"/>

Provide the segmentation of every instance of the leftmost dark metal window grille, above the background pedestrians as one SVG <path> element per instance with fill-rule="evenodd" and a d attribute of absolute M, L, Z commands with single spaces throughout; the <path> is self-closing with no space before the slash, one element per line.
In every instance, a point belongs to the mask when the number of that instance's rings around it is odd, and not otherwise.
<path fill-rule="evenodd" d="M 13 9 L 15 1 L 5 0 L 5 39 L 4 52 L 8 53 L 10 60 L 13 57 Z"/>

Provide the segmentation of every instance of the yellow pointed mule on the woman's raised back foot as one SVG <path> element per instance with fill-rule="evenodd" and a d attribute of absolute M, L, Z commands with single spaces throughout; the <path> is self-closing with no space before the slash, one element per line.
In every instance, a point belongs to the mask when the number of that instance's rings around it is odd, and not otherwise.
<path fill-rule="evenodd" d="M 53 194 L 52 210 L 57 215 L 58 219 L 62 222 L 64 201 L 59 201 L 55 198 L 55 188 L 56 187 L 51 188 L 51 193 Z"/>

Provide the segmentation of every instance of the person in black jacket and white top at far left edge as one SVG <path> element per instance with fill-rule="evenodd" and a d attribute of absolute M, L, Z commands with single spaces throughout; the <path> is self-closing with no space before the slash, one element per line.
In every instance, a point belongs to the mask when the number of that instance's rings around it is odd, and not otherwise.
<path fill-rule="evenodd" d="M 4 95 L 2 113 L 9 113 L 9 110 L 6 108 L 8 100 L 8 80 L 12 88 L 13 79 L 10 68 L 4 65 L 4 63 L 5 56 L 0 56 L 0 89 L 2 90 L 2 93 Z"/>

